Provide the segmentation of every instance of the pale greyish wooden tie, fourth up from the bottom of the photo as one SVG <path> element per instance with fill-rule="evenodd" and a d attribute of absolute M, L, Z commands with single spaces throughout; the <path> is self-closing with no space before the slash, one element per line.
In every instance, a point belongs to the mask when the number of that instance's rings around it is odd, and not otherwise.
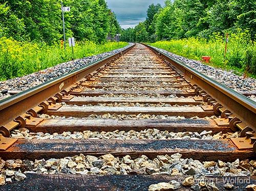
<path fill-rule="evenodd" d="M 151 115 L 171 115 L 184 117 L 206 117 L 215 115 L 213 111 L 204 111 L 201 107 L 102 107 L 102 106 L 62 106 L 57 111 L 47 111 L 49 115 L 67 117 L 85 117 L 91 114 L 151 114 Z"/>

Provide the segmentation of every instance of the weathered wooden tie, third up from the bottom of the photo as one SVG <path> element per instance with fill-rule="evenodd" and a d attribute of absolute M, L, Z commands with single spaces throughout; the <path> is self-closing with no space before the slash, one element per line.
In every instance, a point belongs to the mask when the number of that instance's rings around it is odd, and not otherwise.
<path fill-rule="evenodd" d="M 169 132 L 202 132 L 212 133 L 231 132 L 229 127 L 219 127 L 213 120 L 162 120 L 162 119 L 134 119 L 118 120 L 113 118 L 78 118 L 78 119 L 45 119 L 36 127 L 27 128 L 30 132 L 62 133 L 63 131 L 141 131 L 145 129 L 159 129 Z"/>

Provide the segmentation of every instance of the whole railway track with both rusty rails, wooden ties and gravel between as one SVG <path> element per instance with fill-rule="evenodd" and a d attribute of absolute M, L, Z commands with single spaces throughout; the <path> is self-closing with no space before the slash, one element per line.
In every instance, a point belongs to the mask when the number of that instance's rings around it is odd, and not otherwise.
<path fill-rule="evenodd" d="M 255 102 L 142 44 L 0 110 L 0 167 L 12 181 L 1 190 L 147 190 L 171 180 L 217 190 L 228 175 L 236 190 L 256 183 Z"/>

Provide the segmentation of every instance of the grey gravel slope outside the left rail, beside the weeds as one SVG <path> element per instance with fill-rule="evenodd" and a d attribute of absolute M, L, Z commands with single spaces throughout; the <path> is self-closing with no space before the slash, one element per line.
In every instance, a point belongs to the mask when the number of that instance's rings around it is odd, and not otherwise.
<path fill-rule="evenodd" d="M 129 45 L 117 49 L 114 51 L 98 54 L 95 56 L 90 56 L 82 59 L 77 59 L 74 61 L 69 61 L 65 63 L 58 64 L 56 66 L 38 71 L 36 73 L 20 77 L 20 78 L 15 78 L 15 79 L 10 79 L 7 81 L 0 82 L 0 90 L 27 90 L 29 88 L 32 88 L 34 86 L 37 86 L 41 83 L 47 82 L 49 80 L 55 79 L 59 76 L 62 76 L 64 74 L 70 73 L 71 71 L 81 68 L 83 66 L 86 66 L 90 63 L 93 63 L 99 59 L 102 59 L 104 57 L 113 55 L 121 50 L 126 49 L 126 47 L 129 47 L 133 45 L 133 43 L 130 43 Z M 0 94 L 1 97 L 1 94 Z"/>

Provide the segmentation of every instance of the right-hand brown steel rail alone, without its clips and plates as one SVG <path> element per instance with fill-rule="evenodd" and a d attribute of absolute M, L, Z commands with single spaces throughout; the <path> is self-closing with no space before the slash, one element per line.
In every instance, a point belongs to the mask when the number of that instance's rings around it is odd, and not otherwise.
<path fill-rule="evenodd" d="M 256 102 L 243 96 L 241 93 L 201 74 L 199 71 L 158 51 L 155 47 L 143 44 L 158 54 L 161 58 L 173 64 L 191 84 L 197 84 L 223 107 L 228 108 L 243 123 L 256 132 Z"/>

